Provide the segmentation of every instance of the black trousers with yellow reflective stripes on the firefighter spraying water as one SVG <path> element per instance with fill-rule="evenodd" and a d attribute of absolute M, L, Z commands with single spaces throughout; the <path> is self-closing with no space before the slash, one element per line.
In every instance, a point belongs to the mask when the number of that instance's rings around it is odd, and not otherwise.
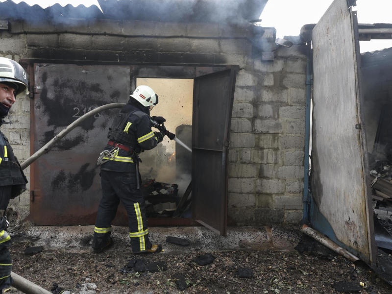
<path fill-rule="evenodd" d="M 148 239 L 146 202 L 140 189 L 136 189 L 135 174 L 101 170 L 101 184 L 102 199 L 95 222 L 93 248 L 102 248 L 108 243 L 111 222 L 121 201 L 128 215 L 133 253 L 150 249 L 152 245 Z"/>

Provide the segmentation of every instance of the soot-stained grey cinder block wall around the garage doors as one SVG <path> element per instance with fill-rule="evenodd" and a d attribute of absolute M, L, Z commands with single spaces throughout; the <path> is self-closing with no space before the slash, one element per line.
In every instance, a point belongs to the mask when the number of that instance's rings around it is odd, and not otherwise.
<path fill-rule="evenodd" d="M 262 50 L 275 47 L 274 28 L 106 20 L 75 20 L 72 25 L 10 22 L 10 32 L 0 31 L 0 54 L 16 61 L 238 65 L 229 151 L 229 216 L 239 225 L 300 221 L 304 45 L 280 48 L 273 61 L 261 61 Z M 103 32 L 106 35 L 96 35 Z M 8 117 L 13 124 L 2 127 L 21 161 L 30 153 L 29 108 L 29 98 L 19 99 Z M 11 205 L 26 215 L 29 191 Z"/>

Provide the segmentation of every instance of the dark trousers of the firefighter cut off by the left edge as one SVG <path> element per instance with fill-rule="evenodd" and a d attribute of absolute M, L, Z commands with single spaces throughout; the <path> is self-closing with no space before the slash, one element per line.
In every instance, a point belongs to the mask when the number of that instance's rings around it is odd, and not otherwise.
<path fill-rule="evenodd" d="M 12 186 L 0 186 L 0 210 L 7 209 L 11 188 Z M 11 278 L 12 261 L 8 250 L 12 241 L 6 230 L 6 219 L 0 217 L 0 293 L 2 289 L 9 288 L 13 283 Z"/>

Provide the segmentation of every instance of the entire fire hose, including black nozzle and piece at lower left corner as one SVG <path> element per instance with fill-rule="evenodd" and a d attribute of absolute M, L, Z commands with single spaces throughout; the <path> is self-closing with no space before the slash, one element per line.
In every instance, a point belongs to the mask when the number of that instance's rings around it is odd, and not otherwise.
<path fill-rule="evenodd" d="M 36 161 L 38 158 L 40 158 L 43 154 L 47 153 L 49 151 L 49 149 L 54 144 L 56 144 L 58 141 L 60 141 L 62 138 L 64 138 L 69 132 L 71 132 L 80 123 L 84 122 L 88 118 L 96 115 L 97 113 L 99 113 L 101 111 L 112 109 L 112 108 L 123 107 L 124 105 L 126 105 L 126 104 L 125 103 L 110 103 L 110 104 L 99 106 L 96 109 L 87 112 L 86 114 L 84 114 L 83 116 L 78 118 L 76 121 L 74 121 L 73 123 L 68 125 L 65 129 L 63 129 L 60 133 L 58 133 L 53 139 L 51 139 L 47 144 L 45 144 L 43 147 L 41 147 L 37 152 L 35 152 L 33 155 L 31 155 L 29 158 L 27 158 L 21 164 L 22 170 L 25 170 L 25 168 L 27 168 L 30 164 L 32 164 L 34 161 Z M 165 127 L 165 125 L 163 123 L 159 124 L 159 123 L 151 120 L 151 125 L 153 127 L 157 128 L 160 132 L 162 132 L 166 136 L 168 136 L 168 138 L 170 140 L 177 139 L 177 138 L 175 138 L 175 135 L 173 133 L 169 132 L 166 129 L 166 127 Z M 177 141 L 177 140 L 175 140 L 175 141 Z M 180 142 L 180 144 L 182 143 L 181 141 L 179 141 L 179 142 Z M 188 147 L 188 149 L 189 149 L 189 147 Z M 49 291 L 47 291 L 47 290 L 41 288 L 40 286 L 30 282 L 29 280 L 26 280 L 25 278 L 19 276 L 18 274 L 14 273 L 12 271 L 11 271 L 11 275 L 12 275 L 12 277 L 14 279 L 14 283 L 12 284 L 12 286 L 14 288 L 22 291 L 25 294 L 50 294 Z"/>

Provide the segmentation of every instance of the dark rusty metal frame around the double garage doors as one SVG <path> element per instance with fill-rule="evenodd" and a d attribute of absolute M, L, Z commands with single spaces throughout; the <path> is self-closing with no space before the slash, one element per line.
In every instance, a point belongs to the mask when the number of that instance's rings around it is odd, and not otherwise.
<path fill-rule="evenodd" d="M 42 59 L 22 59 L 23 64 L 30 76 L 30 154 L 34 153 L 34 63 L 51 63 L 51 64 L 76 64 L 76 65 L 128 65 L 130 67 L 130 87 L 136 87 L 136 79 L 138 77 L 144 78 L 195 78 L 200 75 L 214 73 L 225 69 L 239 70 L 237 65 L 208 65 L 199 66 L 193 64 L 153 64 L 145 65 L 141 63 L 113 63 L 113 62 L 80 62 L 80 61 L 58 61 L 58 60 L 42 60 Z M 230 111 L 231 115 L 231 111 Z M 45 155 L 44 155 L 45 156 Z M 227 161 L 226 161 L 227 162 Z M 35 172 L 33 168 L 34 163 L 30 168 L 30 203 L 34 201 L 34 177 Z M 228 167 L 227 167 L 228 168 Z M 227 194 L 227 182 L 226 194 Z M 227 215 L 227 203 L 225 205 L 225 214 Z M 26 217 L 28 220 L 29 217 Z M 194 214 L 192 218 L 188 219 L 172 219 L 172 218 L 149 218 L 149 225 L 200 225 L 195 221 Z M 127 225 L 127 224 L 124 224 Z"/>

